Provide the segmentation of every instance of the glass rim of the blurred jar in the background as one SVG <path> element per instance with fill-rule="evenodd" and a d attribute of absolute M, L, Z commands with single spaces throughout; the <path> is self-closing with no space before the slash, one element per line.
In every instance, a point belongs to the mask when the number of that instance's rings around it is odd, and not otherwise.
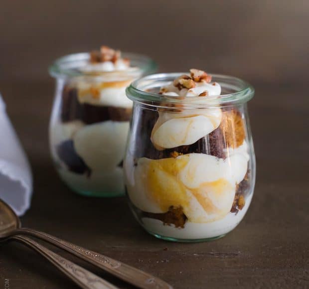
<path fill-rule="evenodd" d="M 132 67 L 127 70 L 99 71 L 98 73 L 87 74 L 78 68 L 89 64 L 90 53 L 80 52 L 62 56 L 56 59 L 48 68 L 49 74 L 55 78 L 87 77 L 92 80 L 104 81 L 106 77 L 113 75 L 126 75 L 136 77 L 154 73 L 157 64 L 150 57 L 131 52 L 122 52 L 123 58 L 130 59 Z"/>

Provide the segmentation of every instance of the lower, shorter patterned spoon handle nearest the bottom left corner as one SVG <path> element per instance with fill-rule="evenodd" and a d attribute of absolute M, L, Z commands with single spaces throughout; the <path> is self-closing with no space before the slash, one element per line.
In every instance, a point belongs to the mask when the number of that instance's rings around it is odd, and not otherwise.
<path fill-rule="evenodd" d="M 66 276 L 68 276 L 81 288 L 118 289 L 118 287 L 115 287 L 114 285 L 103 280 L 97 275 L 89 272 L 88 270 L 48 250 L 44 246 L 38 244 L 37 242 L 31 240 L 28 237 L 16 235 L 9 237 L 9 239 L 14 239 L 34 249 L 36 252 L 38 252 L 39 254 L 44 256 L 48 261 L 50 261 L 53 265 L 55 265 L 60 271 L 62 271 Z"/>

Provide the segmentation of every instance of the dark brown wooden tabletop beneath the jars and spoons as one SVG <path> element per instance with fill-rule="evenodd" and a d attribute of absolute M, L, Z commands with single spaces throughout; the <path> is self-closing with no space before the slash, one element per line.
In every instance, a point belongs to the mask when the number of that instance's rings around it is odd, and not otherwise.
<path fill-rule="evenodd" d="M 224 238 L 181 244 L 147 234 L 125 198 L 78 196 L 60 181 L 48 148 L 52 80 L 0 83 L 34 175 L 32 206 L 22 224 L 119 259 L 175 288 L 309 288 L 308 92 L 300 86 L 253 85 L 249 113 L 257 182 L 252 204 Z M 14 242 L 0 246 L 2 287 L 4 279 L 11 289 L 75 288 L 41 256 Z"/>

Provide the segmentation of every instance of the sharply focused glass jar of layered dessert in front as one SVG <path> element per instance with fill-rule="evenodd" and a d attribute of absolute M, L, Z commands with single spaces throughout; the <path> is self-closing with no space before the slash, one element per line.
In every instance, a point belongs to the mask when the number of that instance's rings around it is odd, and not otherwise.
<path fill-rule="evenodd" d="M 158 94 L 180 75 L 154 74 L 127 88 L 134 106 L 126 190 L 134 216 L 150 234 L 208 241 L 233 230 L 252 199 L 256 165 L 246 103 L 254 89 L 238 78 L 212 75 L 220 96 Z"/>

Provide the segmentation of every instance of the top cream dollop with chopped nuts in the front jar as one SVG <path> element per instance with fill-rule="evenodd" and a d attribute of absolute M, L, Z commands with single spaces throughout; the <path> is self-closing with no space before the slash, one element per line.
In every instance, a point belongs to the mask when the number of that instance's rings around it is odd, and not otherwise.
<path fill-rule="evenodd" d="M 183 75 L 173 83 L 162 87 L 160 94 L 179 97 L 219 96 L 221 87 L 216 82 L 210 82 L 211 77 L 204 71 L 191 69 L 191 75 Z M 159 111 L 151 140 L 154 146 L 162 150 L 180 145 L 194 144 L 219 127 L 221 109 L 190 109 Z"/>

